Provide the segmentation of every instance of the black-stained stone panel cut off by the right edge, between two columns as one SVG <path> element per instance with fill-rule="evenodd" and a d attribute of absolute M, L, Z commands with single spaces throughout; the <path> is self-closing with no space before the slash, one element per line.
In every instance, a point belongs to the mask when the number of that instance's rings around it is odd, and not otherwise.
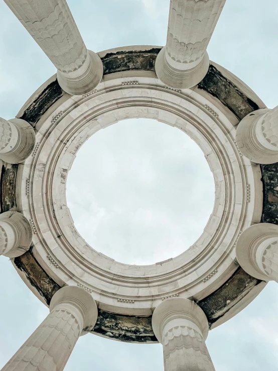
<path fill-rule="evenodd" d="M 278 163 L 260 165 L 263 184 L 262 223 L 278 225 Z"/>

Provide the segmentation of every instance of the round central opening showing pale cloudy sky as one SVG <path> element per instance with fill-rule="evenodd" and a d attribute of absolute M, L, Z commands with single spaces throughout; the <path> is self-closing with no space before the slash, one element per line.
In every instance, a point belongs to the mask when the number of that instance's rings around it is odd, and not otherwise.
<path fill-rule="evenodd" d="M 67 204 L 80 235 L 126 264 L 153 264 L 187 250 L 214 205 L 214 179 L 185 133 L 150 119 L 94 134 L 67 179 Z"/>

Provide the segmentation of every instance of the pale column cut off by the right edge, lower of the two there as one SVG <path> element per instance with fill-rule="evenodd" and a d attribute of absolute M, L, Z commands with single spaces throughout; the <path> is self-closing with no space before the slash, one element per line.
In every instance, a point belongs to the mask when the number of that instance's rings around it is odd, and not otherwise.
<path fill-rule="evenodd" d="M 236 257 L 248 274 L 278 283 L 278 226 L 259 223 L 247 228 L 237 240 Z"/>

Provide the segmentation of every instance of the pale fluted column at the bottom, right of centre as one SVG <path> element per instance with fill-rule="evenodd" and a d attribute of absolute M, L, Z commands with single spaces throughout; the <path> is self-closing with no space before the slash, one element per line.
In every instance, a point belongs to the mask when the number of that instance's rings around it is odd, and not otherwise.
<path fill-rule="evenodd" d="M 208 321 L 196 303 L 166 299 L 155 309 L 152 325 L 163 345 L 165 371 L 215 371 L 205 343 Z"/>

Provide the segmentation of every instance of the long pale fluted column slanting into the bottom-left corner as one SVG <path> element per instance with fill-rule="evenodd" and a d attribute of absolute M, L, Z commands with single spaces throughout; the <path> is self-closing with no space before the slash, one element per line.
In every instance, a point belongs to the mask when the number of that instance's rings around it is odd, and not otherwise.
<path fill-rule="evenodd" d="M 60 289 L 50 314 L 2 371 L 63 370 L 82 330 L 90 331 L 96 320 L 97 306 L 89 293 L 73 286 Z"/>

